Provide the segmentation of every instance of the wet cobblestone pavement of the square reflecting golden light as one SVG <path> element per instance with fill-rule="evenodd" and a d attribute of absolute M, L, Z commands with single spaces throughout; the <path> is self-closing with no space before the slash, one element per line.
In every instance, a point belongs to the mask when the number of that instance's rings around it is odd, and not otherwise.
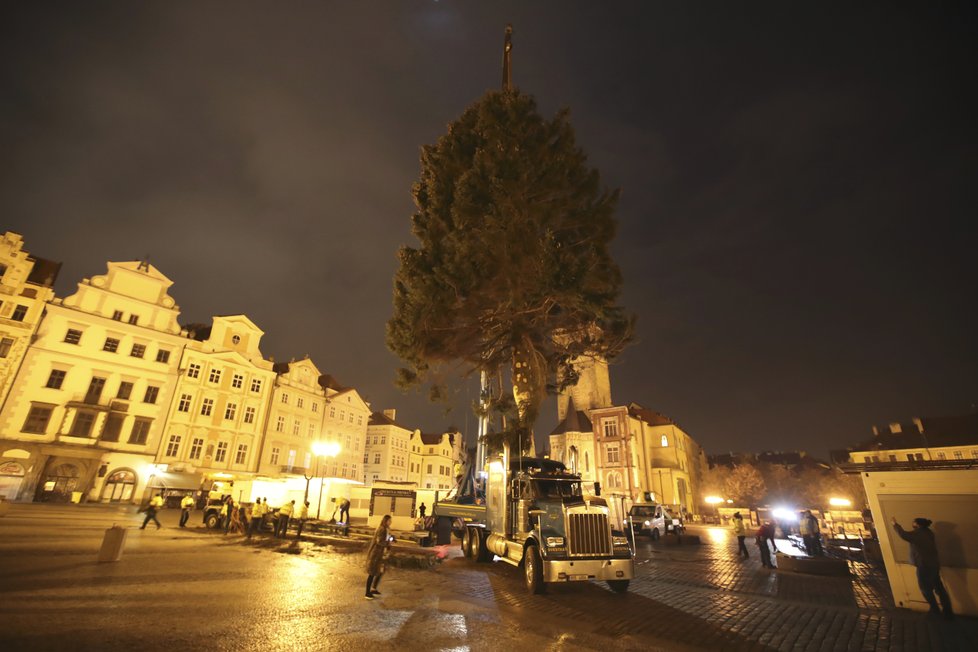
<path fill-rule="evenodd" d="M 122 562 L 95 564 L 101 528 L 139 517 L 71 509 L 24 506 L 0 520 L 5 649 L 978 649 L 978 620 L 895 609 L 879 569 L 855 564 L 852 578 L 763 569 L 757 555 L 740 561 L 722 529 L 704 529 L 699 546 L 640 539 L 627 594 L 575 583 L 529 595 L 518 569 L 452 547 L 432 568 L 392 569 L 370 602 L 355 538 L 246 543 L 165 527 L 131 531 Z"/>

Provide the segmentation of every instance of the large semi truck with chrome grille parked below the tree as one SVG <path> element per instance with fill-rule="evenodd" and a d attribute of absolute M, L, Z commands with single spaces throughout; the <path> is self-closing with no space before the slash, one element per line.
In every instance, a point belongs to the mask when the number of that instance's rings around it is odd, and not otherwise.
<path fill-rule="evenodd" d="M 463 554 L 522 568 L 526 588 L 554 582 L 605 581 L 624 593 L 635 576 L 634 553 L 612 530 L 608 504 L 582 493 L 581 476 L 554 460 L 490 457 L 484 489 L 439 500 L 432 515 L 461 535 Z"/>

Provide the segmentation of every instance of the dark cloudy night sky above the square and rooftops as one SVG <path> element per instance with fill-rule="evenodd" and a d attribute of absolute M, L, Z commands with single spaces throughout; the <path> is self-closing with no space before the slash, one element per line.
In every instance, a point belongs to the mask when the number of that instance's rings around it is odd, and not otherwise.
<path fill-rule="evenodd" d="M 148 257 L 184 323 L 244 313 L 474 435 L 475 384 L 401 394 L 384 326 L 419 148 L 499 86 L 507 22 L 514 85 L 622 189 L 616 403 L 819 456 L 975 409 L 974 3 L 7 3 L 0 228 L 60 296 Z"/>

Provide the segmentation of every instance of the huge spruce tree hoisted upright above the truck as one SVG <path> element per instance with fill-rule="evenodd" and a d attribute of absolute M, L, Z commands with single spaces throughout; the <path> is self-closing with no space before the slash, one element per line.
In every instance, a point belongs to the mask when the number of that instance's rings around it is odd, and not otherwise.
<path fill-rule="evenodd" d="M 407 363 L 399 384 L 437 384 L 453 362 L 509 368 L 518 423 L 506 435 L 527 442 L 552 379 L 573 383 L 575 358 L 611 359 L 631 336 L 608 253 L 618 191 L 588 167 L 566 110 L 545 120 L 532 97 L 502 90 L 422 148 L 413 194 L 420 246 L 399 252 L 387 324 Z"/>

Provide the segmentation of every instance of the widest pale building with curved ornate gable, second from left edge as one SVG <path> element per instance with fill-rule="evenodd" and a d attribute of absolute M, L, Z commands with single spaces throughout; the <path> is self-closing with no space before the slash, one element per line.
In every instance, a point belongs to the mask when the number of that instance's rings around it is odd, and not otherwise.
<path fill-rule="evenodd" d="M 4 449 L 28 468 L 13 499 L 136 501 L 154 458 L 186 338 L 172 281 L 110 262 L 52 299 L 0 412 Z"/>

